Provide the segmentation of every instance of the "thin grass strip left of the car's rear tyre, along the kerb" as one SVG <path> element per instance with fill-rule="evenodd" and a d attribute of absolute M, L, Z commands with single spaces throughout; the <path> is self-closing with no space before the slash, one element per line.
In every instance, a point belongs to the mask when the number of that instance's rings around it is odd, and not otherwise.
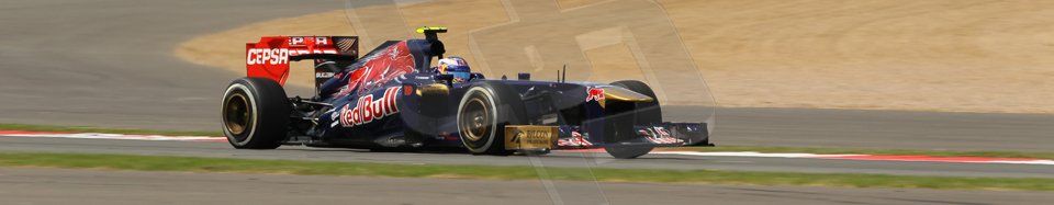
<path fill-rule="evenodd" d="M 223 136 L 223 133 L 220 133 L 220 132 L 123 129 L 123 128 L 101 128 L 101 127 L 89 127 L 89 126 L 51 126 L 51 125 L 25 125 L 25 124 L 0 124 L 0 130 L 106 133 L 106 134 L 168 135 L 168 136 Z"/>

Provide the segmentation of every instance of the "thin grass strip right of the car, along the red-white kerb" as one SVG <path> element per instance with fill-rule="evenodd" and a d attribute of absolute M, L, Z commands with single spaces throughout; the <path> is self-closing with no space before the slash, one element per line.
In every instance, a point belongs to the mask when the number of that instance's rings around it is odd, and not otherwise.
<path fill-rule="evenodd" d="M 1054 152 L 1027 151 L 953 151 L 953 150 L 909 150 L 909 149 L 866 149 L 866 148 L 830 148 L 830 147 L 752 147 L 752 146 L 717 146 L 717 147 L 679 147 L 663 150 L 687 151 L 756 151 L 770 153 L 861 153 L 861 155 L 922 155 L 941 157 L 1001 157 L 1001 158 L 1036 158 L 1054 159 Z"/>

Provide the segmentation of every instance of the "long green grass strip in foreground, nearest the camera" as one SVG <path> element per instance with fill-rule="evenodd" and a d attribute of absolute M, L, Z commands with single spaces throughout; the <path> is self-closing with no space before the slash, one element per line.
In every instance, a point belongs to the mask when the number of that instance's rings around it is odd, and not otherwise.
<path fill-rule="evenodd" d="M 530 167 L 392 164 L 82 153 L 0 153 L 0 167 L 489 180 L 538 179 L 535 170 Z M 590 171 L 582 168 L 550 168 L 548 172 L 553 174 L 553 179 L 557 180 L 584 181 L 593 179 L 588 174 Z M 644 169 L 594 169 L 593 173 L 595 173 L 597 180 L 606 182 L 1054 191 L 1054 179 L 1036 178 L 952 178 Z"/>

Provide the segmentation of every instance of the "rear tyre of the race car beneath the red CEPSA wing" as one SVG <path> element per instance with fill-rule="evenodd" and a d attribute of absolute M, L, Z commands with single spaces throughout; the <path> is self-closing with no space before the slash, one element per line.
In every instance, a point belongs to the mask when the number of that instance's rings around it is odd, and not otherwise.
<path fill-rule="evenodd" d="M 289 99 L 270 79 L 240 78 L 223 93 L 223 134 L 238 149 L 274 149 L 289 129 Z"/>

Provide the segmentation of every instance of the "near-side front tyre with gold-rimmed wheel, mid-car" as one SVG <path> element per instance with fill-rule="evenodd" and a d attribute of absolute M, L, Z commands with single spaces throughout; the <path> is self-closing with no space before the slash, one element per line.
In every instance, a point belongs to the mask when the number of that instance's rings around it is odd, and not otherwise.
<path fill-rule="evenodd" d="M 483 82 L 466 91 L 458 104 L 461 143 L 472 153 L 511 155 L 505 150 L 505 125 L 522 125 L 519 94 L 497 82 Z"/>

